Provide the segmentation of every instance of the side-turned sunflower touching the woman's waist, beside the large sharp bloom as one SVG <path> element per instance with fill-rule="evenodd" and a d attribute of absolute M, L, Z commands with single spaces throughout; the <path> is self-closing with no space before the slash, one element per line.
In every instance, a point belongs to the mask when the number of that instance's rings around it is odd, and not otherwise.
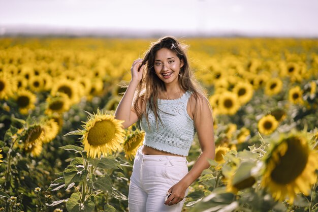
<path fill-rule="evenodd" d="M 145 132 L 137 129 L 125 138 L 125 142 L 123 143 L 125 158 L 132 160 L 137 153 L 138 147 L 142 144 L 144 137 Z"/>

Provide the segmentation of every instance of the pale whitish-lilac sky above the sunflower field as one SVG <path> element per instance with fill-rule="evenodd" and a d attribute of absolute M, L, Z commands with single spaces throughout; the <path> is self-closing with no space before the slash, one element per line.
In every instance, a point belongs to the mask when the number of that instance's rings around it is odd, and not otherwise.
<path fill-rule="evenodd" d="M 0 0 L 0 35 L 58 28 L 318 37 L 317 20 L 318 0 Z"/>

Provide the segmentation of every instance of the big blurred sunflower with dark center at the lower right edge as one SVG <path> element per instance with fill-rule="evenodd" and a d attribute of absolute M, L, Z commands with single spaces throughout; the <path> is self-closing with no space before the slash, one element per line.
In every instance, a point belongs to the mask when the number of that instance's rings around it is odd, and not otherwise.
<path fill-rule="evenodd" d="M 318 155 L 310 149 L 306 135 L 295 132 L 282 135 L 265 158 L 261 186 L 275 200 L 288 198 L 293 203 L 296 193 L 309 195 L 310 185 L 316 180 L 317 161 Z"/>

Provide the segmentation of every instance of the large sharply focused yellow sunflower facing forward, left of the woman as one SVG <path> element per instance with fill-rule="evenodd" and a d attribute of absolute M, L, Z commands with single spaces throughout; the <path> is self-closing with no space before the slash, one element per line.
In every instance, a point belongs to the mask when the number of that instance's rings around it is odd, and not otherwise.
<path fill-rule="evenodd" d="M 115 119 L 115 116 L 108 115 L 100 110 L 97 114 L 90 114 L 89 120 L 85 123 L 83 144 L 87 151 L 87 157 L 100 158 L 101 153 L 111 153 L 112 150 L 120 148 L 124 142 L 124 121 Z"/>

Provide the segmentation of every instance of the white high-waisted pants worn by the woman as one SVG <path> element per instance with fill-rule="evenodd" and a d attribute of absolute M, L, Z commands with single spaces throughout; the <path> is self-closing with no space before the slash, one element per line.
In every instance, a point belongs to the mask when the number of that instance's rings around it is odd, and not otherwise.
<path fill-rule="evenodd" d="M 187 161 L 181 156 L 144 155 L 138 148 L 129 186 L 130 212 L 180 212 L 185 198 L 165 205 L 167 191 L 188 173 Z M 185 192 L 185 196 L 188 189 Z"/>

